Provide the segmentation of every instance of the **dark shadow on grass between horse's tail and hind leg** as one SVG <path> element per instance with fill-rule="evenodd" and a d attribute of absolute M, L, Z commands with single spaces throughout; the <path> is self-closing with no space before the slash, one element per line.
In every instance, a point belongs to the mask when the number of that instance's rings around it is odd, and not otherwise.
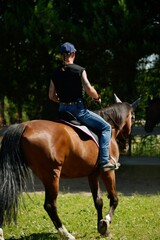
<path fill-rule="evenodd" d="M 19 238 L 6 238 L 6 240 L 58 240 L 58 233 L 34 233 L 29 236 Z"/>

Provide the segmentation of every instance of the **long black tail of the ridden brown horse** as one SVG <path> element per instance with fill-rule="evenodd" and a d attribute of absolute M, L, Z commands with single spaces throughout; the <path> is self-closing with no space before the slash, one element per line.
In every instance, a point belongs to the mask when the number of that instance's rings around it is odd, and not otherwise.
<path fill-rule="evenodd" d="M 11 125 L 1 142 L 0 216 L 6 223 L 16 222 L 19 195 L 26 192 L 28 180 L 33 179 L 21 149 L 21 136 L 24 130 L 24 124 Z"/>

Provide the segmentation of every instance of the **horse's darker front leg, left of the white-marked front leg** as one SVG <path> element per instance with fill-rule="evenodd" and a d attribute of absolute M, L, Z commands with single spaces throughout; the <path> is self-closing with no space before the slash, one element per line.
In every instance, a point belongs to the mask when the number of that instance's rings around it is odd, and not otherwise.
<path fill-rule="evenodd" d="M 94 201 L 94 206 L 97 210 L 97 226 L 99 231 L 99 223 L 103 219 L 102 209 L 103 209 L 103 199 L 100 193 L 99 187 L 99 174 L 94 172 L 88 176 L 89 186 L 92 192 L 92 197 Z"/>

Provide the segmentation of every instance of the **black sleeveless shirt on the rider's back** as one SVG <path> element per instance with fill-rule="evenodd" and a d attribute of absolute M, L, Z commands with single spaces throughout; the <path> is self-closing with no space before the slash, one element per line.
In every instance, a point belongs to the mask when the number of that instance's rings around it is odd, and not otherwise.
<path fill-rule="evenodd" d="M 51 76 L 60 102 L 74 102 L 83 98 L 82 72 L 84 68 L 76 64 L 57 67 Z"/>

